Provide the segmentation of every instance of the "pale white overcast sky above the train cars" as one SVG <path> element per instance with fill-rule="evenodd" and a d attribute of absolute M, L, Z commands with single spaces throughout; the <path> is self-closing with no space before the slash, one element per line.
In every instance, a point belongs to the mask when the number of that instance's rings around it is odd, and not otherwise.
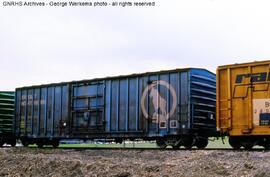
<path fill-rule="evenodd" d="M 155 2 L 42 8 L 1 1 L 0 90 L 182 67 L 215 72 L 270 58 L 268 1 Z"/>

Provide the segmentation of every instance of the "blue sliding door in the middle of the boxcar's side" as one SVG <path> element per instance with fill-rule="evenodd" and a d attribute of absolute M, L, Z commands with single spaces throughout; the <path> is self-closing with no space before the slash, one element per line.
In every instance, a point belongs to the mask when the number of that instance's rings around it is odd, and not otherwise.
<path fill-rule="evenodd" d="M 72 85 L 71 116 L 73 135 L 104 131 L 104 83 L 83 82 Z"/>

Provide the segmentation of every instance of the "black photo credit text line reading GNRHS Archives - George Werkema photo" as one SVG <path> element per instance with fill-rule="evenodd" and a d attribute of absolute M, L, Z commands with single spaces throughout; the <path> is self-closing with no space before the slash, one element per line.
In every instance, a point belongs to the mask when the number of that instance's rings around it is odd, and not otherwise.
<path fill-rule="evenodd" d="M 155 1 L 2 1 L 2 7 L 155 7 Z"/>

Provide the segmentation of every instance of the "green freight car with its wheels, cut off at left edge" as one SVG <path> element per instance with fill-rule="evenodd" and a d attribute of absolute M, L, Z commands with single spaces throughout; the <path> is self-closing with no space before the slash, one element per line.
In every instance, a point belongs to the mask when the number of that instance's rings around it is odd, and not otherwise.
<path fill-rule="evenodd" d="M 16 145 L 14 135 L 15 93 L 0 91 L 0 147 L 4 144 Z"/>

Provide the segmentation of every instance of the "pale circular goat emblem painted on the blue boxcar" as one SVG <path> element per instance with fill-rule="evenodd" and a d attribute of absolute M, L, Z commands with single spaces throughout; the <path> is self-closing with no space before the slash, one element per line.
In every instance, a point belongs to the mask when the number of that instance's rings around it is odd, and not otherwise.
<path fill-rule="evenodd" d="M 173 104 L 171 106 L 171 110 L 169 112 L 167 112 L 167 101 L 160 95 L 159 91 L 155 88 L 155 86 L 157 85 L 162 85 L 164 87 L 166 87 L 173 98 Z M 148 112 L 145 108 L 145 99 L 148 95 L 149 92 L 149 97 L 152 98 L 152 103 L 154 105 L 155 108 L 155 113 L 156 115 L 158 115 L 161 119 L 169 119 L 169 117 L 171 117 L 176 109 L 176 105 L 177 105 L 177 99 L 176 99 L 176 92 L 174 90 L 174 88 L 166 81 L 163 80 L 159 80 L 159 81 L 155 81 L 152 84 L 148 85 L 142 94 L 141 97 L 141 109 L 142 109 L 142 113 L 144 115 L 144 117 L 146 117 L 147 119 L 150 117 L 148 115 Z M 149 103 L 148 103 L 149 104 Z M 158 111 L 159 110 L 159 111 Z M 154 117 L 155 115 L 152 115 L 151 117 Z"/>

